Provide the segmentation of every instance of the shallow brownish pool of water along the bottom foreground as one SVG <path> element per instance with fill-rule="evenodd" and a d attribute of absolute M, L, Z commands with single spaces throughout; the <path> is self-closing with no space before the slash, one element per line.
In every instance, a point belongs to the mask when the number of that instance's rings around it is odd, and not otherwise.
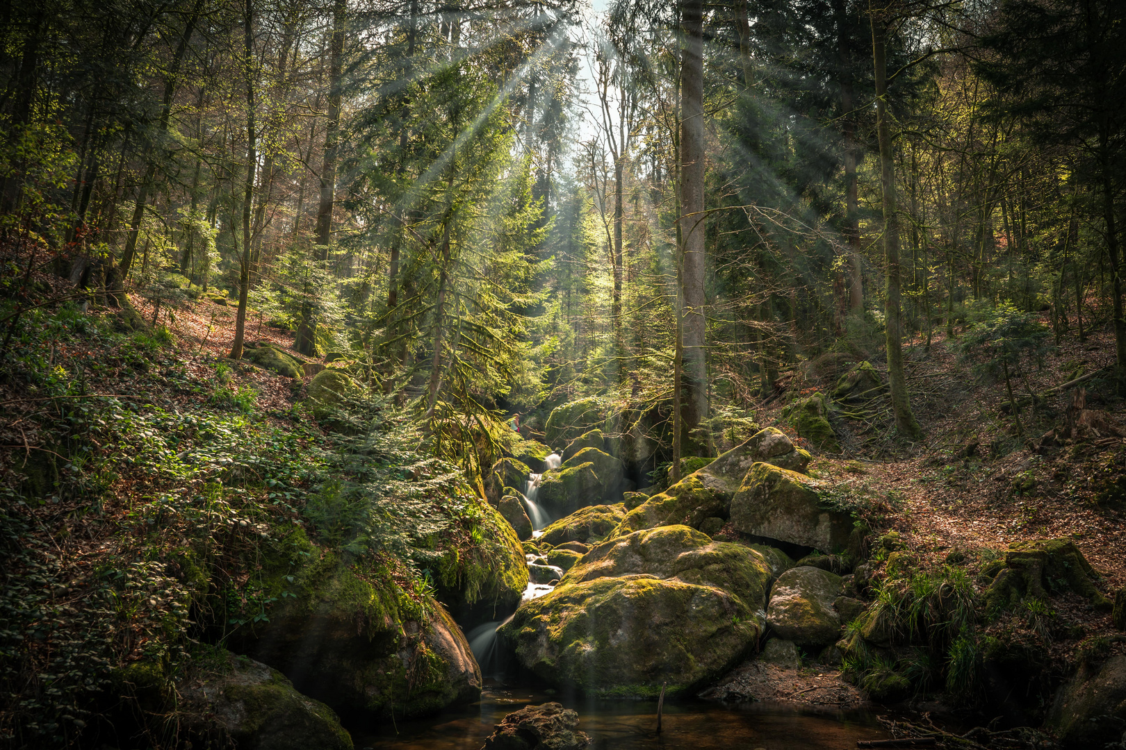
<path fill-rule="evenodd" d="M 890 735 L 863 711 L 803 711 L 751 703 L 725 706 L 705 701 L 665 702 L 656 733 L 652 701 L 566 699 L 534 688 L 486 686 L 480 703 L 414 721 L 354 731 L 357 750 L 480 750 L 494 724 L 525 705 L 558 701 L 579 712 L 591 748 L 614 750 L 842 750 L 857 740 Z"/>

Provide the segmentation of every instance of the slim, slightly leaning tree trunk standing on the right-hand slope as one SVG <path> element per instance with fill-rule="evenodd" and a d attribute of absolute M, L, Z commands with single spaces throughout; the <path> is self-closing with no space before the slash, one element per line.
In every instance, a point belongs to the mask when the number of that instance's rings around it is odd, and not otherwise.
<path fill-rule="evenodd" d="M 869 6 L 870 9 L 870 6 Z M 892 129 L 887 123 L 886 27 L 883 18 L 872 16 L 872 53 L 876 78 L 876 133 L 879 141 L 879 174 L 884 191 L 884 263 L 886 268 L 886 304 L 884 320 L 887 342 L 887 380 L 891 387 L 895 426 L 908 437 L 919 437 L 922 430 L 911 413 L 906 377 L 903 372 L 903 313 L 900 308 L 900 222 L 895 207 L 895 165 L 892 154 Z"/>

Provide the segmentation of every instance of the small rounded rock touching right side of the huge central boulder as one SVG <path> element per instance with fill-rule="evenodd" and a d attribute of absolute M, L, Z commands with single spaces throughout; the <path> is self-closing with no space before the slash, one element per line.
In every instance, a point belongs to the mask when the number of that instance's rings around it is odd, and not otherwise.
<path fill-rule="evenodd" d="M 840 615 L 833 608 L 840 576 L 820 568 L 790 568 L 775 581 L 767 624 L 778 638 L 823 647 L 840 638 Z"/>

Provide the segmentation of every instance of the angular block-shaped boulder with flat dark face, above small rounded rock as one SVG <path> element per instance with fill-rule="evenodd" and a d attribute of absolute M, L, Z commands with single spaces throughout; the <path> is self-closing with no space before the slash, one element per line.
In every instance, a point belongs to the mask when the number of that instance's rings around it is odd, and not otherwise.
<path fill-rule="evenodd" d="M 735 531 L 825 552 L 843 549 L 852 519 L 823 505 L 820 485 L 804 475 L 756 463 L 731 501 Z"/>

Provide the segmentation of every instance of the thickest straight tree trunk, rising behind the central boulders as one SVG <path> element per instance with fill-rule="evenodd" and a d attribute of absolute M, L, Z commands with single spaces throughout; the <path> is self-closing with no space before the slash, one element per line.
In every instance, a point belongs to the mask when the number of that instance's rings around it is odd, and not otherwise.
<path fill-rule="evenodd" d="M 711 440 L 698 431 L 708 416 L 706 319 L 704 317 L 704 2 L 680 6 L 683 49 L 680 61 L 680 231 L 683 235 L 683 349 L 687 376 L 685 427 L 698 452 Z"/>

